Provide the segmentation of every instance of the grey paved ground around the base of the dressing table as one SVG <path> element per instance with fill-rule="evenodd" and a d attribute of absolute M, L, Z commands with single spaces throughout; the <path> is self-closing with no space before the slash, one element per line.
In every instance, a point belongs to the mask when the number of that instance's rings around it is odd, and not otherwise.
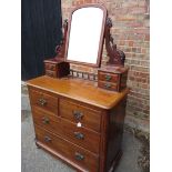
<path fill-rule="evenodd" d="M 34 144 L 34 130 L 30 111 L 22 112 L 21 172 L 74 172 Z M 131 133 L 123 134 L 123 156 L 115 172 L 141 172 L 138 166 L 141 143 Z"/>

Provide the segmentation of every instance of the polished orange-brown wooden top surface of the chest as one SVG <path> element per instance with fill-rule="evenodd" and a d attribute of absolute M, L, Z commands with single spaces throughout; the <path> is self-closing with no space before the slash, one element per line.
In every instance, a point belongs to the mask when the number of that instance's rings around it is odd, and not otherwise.
<path fill-rule="evenodd" d="M 53 79 L 43 75 L 27 81 L 27 84 L 103 109 L 113 108 L 129 93 L 129 89 L 122 92 L 108 91 L 98 88 L 97 82 L 75 78 Z"/>

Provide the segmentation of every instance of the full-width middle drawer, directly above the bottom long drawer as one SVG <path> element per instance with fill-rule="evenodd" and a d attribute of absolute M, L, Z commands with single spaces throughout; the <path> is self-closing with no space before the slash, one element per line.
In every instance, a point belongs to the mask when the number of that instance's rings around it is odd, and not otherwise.
<path fill-rule="evenodd" d="M 33 121 L 62 138 L 99 154 L 100 133 L 88 130 L 83 127 L 78 128 L 77 124 L 68 120 L 55 117 L 39 108 L 33 108 Z"/>

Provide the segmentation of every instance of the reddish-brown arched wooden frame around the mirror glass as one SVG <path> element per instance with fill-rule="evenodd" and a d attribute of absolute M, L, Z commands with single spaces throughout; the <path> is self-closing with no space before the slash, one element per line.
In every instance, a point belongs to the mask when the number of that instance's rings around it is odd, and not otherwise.
<path fill-rule="evenodd" d="M 97 63 L 88 63 L 88 62 L 80 62 L 80 61 L 73 61 L 73 60 L 68 60 L 68 48 L 69 48 L 69 40 L 70 40 L 70 30 L 71 30 L 71 21 L 72 21 L 72 14 L 74 11 L 82 9 L 82 8 L 89 8 L 89 7 L 94 7 L 94 8 L 100 8 L 103 11 L 103 19 L 102 19 L 102 29 L 101 29 L 101 34 L 100 34 L 100 41 L 99 41 L 99 50 L 98 50 L 98 59 Z M 71 16 L 69 18 L 69 28 L 68 28 L 68 33 L 67 33 L 67 44 L 65 44 L 65 55 L 64 55 L 64 61 L 75 63 L 75 64 L 83 64 L 83 65 L 89 65 L 89 67 L 100 67 L 101 63 L 101 58 L 102 58 L 102 49 L 103 49 L 103 43 L 104 43 L 104 31 L 105 31 L 105 21 L 108 17 L 108 11 L 103 4 L 94 4 L 94 3 L 88 3 L 88 4 L 82 4 L 74 10 L 72 10 Z"/>

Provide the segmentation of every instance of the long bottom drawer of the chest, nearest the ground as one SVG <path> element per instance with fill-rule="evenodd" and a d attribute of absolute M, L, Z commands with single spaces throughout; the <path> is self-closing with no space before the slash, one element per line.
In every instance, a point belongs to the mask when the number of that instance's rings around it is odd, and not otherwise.
<path fill-rule="evenodd" d="M 99 166 L 99 156 L 75 144 L 62 140 L 61 138 L 36 127 L 37 140 L 49 146 L 53 151 L 68 158 L 70 161 L 85 169 L 85 171 L 97 172 Z"/>

